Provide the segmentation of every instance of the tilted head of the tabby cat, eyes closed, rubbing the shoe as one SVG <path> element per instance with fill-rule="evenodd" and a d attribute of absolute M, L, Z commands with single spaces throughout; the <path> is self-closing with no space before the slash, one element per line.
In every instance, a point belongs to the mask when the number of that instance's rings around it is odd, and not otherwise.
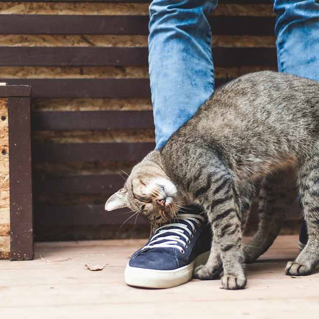
<path fill-rule="evenodd" d="M 178 207 L 183 204 L 181 198 L 160 165 L 143 160 L 133 167 L 124 187 L 107 200 L 105 209 L 129 207 L 152 225 L 158 225 L 176 216 Z"/>

